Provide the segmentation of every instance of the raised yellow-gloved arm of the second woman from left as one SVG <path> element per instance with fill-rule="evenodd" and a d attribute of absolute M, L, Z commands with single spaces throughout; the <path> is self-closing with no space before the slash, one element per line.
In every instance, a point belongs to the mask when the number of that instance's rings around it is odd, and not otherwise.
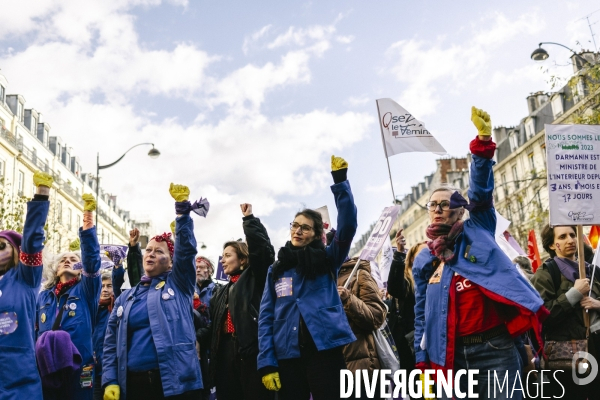
<path fill-rule="evenodd" d="M 100 291 L 102 289 L 102 279 L 100 278 L 100 244 L 98 235 L 94 226 L 94 211 L 96 210 L 96 200 L 91 194 L 84 194 L 83 198 L 83 227 L 79 228 L 79 240 L 81 241 L 81 284 L 85 301 L 88 304 L 92 322 L 96 321 L 96 312 L 98 310 L 98 301 L 100 300 Z"/>

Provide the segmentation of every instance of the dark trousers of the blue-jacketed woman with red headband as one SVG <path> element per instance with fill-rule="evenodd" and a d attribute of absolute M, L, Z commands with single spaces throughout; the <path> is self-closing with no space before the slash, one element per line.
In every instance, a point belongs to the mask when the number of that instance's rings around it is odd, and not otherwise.
<path fill-rule="evenodd" d="M 198 400 L 201 390 L 165 397 L 158 370 L 127 373 L 127 400 Z"/>

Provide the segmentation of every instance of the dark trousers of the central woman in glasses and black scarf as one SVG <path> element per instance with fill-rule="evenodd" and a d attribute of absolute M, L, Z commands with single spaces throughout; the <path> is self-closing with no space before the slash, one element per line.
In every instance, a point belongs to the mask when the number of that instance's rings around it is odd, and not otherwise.
<path fill-rule="evenodd" d="M 340 398 L 340 370 L 346 369 L 342 347 L 318 351 L 306 346 L 300 358 L 278 361 L 279 400 L 308 400 L 311 393 L 313 400 Z"/>

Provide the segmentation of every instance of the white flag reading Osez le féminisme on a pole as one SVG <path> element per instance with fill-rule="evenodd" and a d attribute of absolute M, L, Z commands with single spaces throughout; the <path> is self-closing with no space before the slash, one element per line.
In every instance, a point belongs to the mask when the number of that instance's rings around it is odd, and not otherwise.
<path fill-rule="evenodd" d="M 378 99 L 379 124 L 385 154 L 389 158 L 395 154 L 413 151 L 447 154 L 442 145 L 400 104 L 392 99 Z"/>

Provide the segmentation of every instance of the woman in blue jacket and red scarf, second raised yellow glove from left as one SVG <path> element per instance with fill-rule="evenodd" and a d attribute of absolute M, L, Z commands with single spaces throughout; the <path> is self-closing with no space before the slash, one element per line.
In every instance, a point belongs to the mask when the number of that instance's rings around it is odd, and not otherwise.
<path fill-rule="evenodd" d="M 37 300 L 38 343 L 36 355 L 42 376 L 45 400 L 92 400 L 94 384 L 94 350 L 92 332 L 100 298 L 100 246 L 94 213 L 96 200 L 91 194 L 83 195 L 83 227 L 79 229 L 81 262 L 76 253 L 65 253 L 56 270 L 57 283 L 42 291 Z M 53 284 L 56 281 L 51 281 Z M 60 312 L 62 308 L 62 313 Z M 81 364 L 75 365 L 69 376 L 57 379 L 53 370 L 61 357 L 57 350 L 47 347 L 43 334 L 53 331 L 54 322 L 60 316 L 58 330 L 69 334 L 72 344 L 81 356 Z"/>

